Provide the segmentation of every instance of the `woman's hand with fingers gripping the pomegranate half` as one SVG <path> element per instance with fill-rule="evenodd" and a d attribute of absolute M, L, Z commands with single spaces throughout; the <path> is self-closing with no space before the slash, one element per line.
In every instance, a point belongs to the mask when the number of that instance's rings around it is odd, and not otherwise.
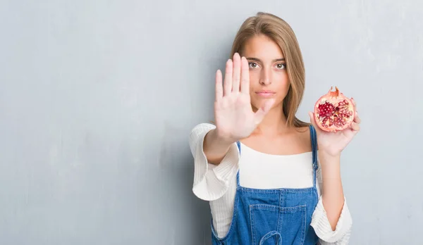
<path fill-rule="evenodd" d="M 326 132 L 317 126 L 314 120 L 314 114 L 309 112 L 310 122 L 317 132 L 317 144 L 319 151 L 329 154 L 330 156 L 338 156 L 341 151 L 351 142 L 355 135 L 360 131 L 360 118 L 357 114 L 357 106 L 354 99 L 351 99 L 355 108 L 355 118 L 350 127 L 338 132 Z"/>

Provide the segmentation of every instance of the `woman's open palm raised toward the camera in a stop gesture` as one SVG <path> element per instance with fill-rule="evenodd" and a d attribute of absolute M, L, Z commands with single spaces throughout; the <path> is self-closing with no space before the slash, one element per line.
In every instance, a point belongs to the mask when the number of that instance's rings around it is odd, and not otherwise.
<path fill-rule="evenodd" d="M 216 73 L 214 118 L 216 134 L 228 142 L 248 137 L 269 112 L 274 99 L 267 100 L 257 112 L 250 103 L 250 75 L 248 62 L 237 53 L 226 62 L 225 79 Z"/>

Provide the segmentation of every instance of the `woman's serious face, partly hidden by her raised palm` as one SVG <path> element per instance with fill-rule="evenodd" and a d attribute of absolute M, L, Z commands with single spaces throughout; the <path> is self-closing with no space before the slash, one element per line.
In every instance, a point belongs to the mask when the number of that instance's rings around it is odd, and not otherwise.
<path fill-rule="evenodd" d="M 281 48 L 265 35 L 250 38 L 243 56 L 250 67 L 250 97 L 256 110 L 266 99 L 275 99 L 273 107 L 281 106 L 288 93 L 289 81 L 286 61 Z"/>

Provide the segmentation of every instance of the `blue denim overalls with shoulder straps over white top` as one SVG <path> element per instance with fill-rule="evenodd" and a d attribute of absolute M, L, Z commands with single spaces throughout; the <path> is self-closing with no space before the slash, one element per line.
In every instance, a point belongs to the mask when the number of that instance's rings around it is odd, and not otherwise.
<path fill-rule="evenodd" d="M 312 214 L 319 196 L 316 188 L 317 138 L 309 126 L 312 141 L 313 187 L 304 189 L 252 189 L 240 186 L 236 175 L 236 193 L 231 227 L 219 239 L 213 227 L 214 245 L 317 244 Z M 240 151 L 240 142 L 237 142 Z"/>

